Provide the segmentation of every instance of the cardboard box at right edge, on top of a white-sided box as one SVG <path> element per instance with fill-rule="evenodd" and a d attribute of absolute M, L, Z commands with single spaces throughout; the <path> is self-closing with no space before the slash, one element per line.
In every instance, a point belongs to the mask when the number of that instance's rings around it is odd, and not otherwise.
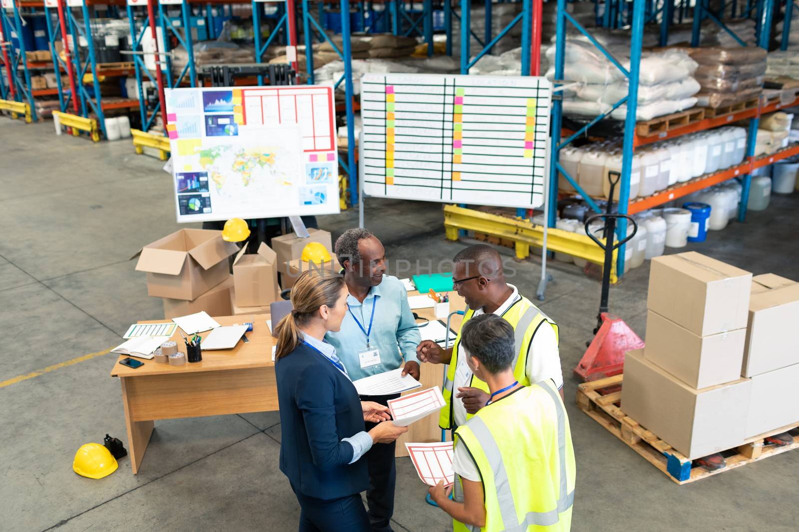
<path fill-rule="evenodd" d="M 741 375 L 799 364 L 799 283 L 765 274 L 752 287 Z"/>

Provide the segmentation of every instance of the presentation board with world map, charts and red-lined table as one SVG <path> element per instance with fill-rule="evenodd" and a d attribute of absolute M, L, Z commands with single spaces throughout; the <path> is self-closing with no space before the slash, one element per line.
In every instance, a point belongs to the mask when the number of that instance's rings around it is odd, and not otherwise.
<path fill-rule="evenodd" d="M 178 223 L 339 212 L 331 87 L 167 89 Z"/>

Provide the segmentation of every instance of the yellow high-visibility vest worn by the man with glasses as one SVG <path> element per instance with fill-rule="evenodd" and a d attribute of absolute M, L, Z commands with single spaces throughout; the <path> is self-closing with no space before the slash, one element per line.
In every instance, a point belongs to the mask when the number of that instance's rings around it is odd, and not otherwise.
<path fill-rule="evenodd" d="M 463 323 L 460 326 L 461 330 L 463 330 L 463 325 L 466 325 L 466 322 L 469 321 L 474 314 L 474 309 L 467 309 L 463 316 Z M 516 377 L 516 380 L 519 380 L 520 384 L 523 384 L 524 386 L 530 386 L 532 383 L 530 382 L 530 379 L 527 378 L 526 371 L 527 354 L 530 351 L 530 343 L 533 341 L 535 331 L 539 329 L 539 326 L 547 323 L 547 325 L 551 326 L 552 329 L 555 329 L 555 341 L 558 341 L 558 325 L 555 324 L 555 321 L 552 321 L 549 317 L 547 317 L 545 313 L 541 312 L 537 306 L 533 305 L 529 299 L 523 296 L 519 299 L 519 301 L 516 301 L 513 305 L 511 305 L 511 308 L 507 309 L 505 313 L 503 313 L 502 317 L 508 323 L 513 325 L 513 329 L 515 331 L 515 359 L 513 361 L 513 375 Z M 441 428 L 452 428 L 453 424 L 452 396 L 454 394 L 453 388 L 455 387 L 455 368 L 458 367 L 458 357 L 460 356 L 458 349 L 459 345 L 460 332 L 458 333 L 458 337 L 455 338 L 455 343 L 452 345 L 452 357 L 444 378 L 443 396 L 446 404 L 439 412 L 439 427 Z M 480 388 L 484 392 L 488 392 L 488 384 L 484 383 L 482 380 L 479 380 L 474 375 L 471 376 L 471 383 L 467 385 L 473 388 Z M 470 420 L 471 416 L 472 415 L 467 412 L 466 419 Z"/>

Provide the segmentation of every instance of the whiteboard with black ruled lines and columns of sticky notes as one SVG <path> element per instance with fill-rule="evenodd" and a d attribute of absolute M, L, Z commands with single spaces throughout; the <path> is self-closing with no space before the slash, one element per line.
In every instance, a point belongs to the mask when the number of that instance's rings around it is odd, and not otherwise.
<path fill-rule="evenodd" d="M 364 74 L 364 193 L 541 207 L 551 100 L 544 77 Z"/>

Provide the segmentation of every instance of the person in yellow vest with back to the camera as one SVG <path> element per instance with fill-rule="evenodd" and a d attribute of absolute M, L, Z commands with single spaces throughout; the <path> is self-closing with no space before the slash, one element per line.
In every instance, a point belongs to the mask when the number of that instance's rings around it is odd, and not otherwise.
<path fill-rule="evenodd" d="M 574 448 L 551 380 L 524 386 L 513 372 L 514 330 L 494 314 L 463 325 L 461 351 L 491 398 L 455 431 L 455 484 L 430 488 L 453 531 L 567 532 L 574 503 Z M 448 498 L 454 490 L 453 498 Z"/>

